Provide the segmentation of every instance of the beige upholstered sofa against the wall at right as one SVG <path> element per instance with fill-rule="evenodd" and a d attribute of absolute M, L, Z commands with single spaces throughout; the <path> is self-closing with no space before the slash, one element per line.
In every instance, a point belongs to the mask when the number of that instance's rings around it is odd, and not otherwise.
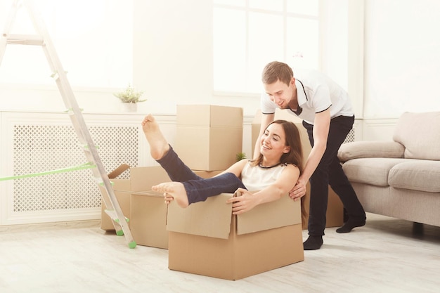
<path fill-rule="evenodd" d="M 393 141 L 345 143 L 338 157 L 365 211 L 440 226 L 440 112 L 405 112 Z"/>

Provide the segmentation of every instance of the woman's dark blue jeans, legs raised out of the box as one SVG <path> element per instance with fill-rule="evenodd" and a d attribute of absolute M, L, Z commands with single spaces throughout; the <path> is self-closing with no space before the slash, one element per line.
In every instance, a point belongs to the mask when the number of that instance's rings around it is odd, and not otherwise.
<path fill-rule="evenodd" d="M 172 181 L 181 182 L 188 195 L 188 202 L 203 202 L 208 197 L 220 193 L 235 193 L 238 188 L 245 188 L 242 181 L 233 173 L 225 173 L 213 178 L 202 178 L 195 174 L 174 152 L 172 146 L 161 159 L 156 162 L 167 171 Z"/>

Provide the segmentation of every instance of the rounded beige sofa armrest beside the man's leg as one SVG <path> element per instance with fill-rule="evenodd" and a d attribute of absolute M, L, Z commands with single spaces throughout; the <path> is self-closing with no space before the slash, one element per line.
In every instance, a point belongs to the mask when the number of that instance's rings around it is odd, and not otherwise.
<path fill-rule="evenodd" d="M 341 162 L 363 157 L 403 157 L 405 147 L 395 141 L 353 141 L 344 143 L 337 152 Z"/>

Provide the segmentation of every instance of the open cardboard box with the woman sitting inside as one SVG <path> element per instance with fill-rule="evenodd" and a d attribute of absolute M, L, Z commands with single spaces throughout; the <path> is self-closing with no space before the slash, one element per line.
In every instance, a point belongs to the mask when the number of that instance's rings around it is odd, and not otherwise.
<path fill-rule="evenodd" d="M 285 196 L 234 216 L 231 196 L 169 204 L 169 269 L 238 280 L 304 260 L 299 202 Z"/>

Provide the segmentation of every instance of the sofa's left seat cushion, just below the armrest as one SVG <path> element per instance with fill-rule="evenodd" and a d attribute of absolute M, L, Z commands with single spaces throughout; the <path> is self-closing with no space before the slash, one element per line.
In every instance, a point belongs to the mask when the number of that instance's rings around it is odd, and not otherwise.
<path fill-rule="evenodd" d="M 405 162 L 399 158 L 359 158 L 350 159 L 342 165 L 351 182 L 388 186 L 388 174 L 396 164 Z"/>

